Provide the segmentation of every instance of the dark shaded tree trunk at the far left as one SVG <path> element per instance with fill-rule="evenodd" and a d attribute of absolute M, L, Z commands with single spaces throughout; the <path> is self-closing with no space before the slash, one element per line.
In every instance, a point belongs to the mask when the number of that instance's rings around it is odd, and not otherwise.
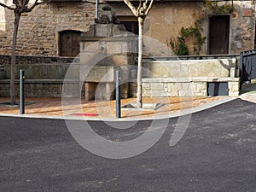
<path fill-rule="evenodd" d="M 20 24 L 20 14 L 15 11 L 14 35 L 11 55 L 11 75 L 10 75 L 10 103 L 15 105 L 15 64 L 16 64 L 16 43 Z"/>

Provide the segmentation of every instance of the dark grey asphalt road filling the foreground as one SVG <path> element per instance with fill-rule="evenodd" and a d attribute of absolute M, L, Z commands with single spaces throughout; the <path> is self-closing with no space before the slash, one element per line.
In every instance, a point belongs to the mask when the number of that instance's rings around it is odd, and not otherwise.
<path fill-rule="evenodd" d="M 63 120 L 0 117 L 0 191 L 256 191 L 256 105 L 239 99 L 194 113 L 177 145 L 160 141 L 124 160 L 90 154 Z M 90 122 L 108 139 L 143 134 Z"/>

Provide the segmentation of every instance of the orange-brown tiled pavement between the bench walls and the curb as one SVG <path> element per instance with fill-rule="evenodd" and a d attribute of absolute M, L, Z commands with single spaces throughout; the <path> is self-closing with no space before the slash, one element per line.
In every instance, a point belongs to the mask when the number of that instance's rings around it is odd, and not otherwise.
<path fill-rule="evenodd" d="M 163 116 L 170 113 L 177 113 L 188 108 L 195 108 L 207 103 L 216 102 L 227 98 L 227 96 L 212 97 L 146 97 L 143 103 L 164 103 L 165 105 L 157 110 L 121 110 L 122 119 L 137 118 L 147 119 L 154 116 Z M 0 97 L 0 103 L 9 102 L 8 97 Z M 61 98 L 49 97 L 27 97 L 26 102 L 33 102 L 26 105 L 25 113 L 30 116 L 50 116 L 50 117 L 75 117 L 86 116 L 94 118 L 115 118 L 115 101 L 80 101 L 79 99 L 67 98 L 64 100 L 63 107 Z M 123 99 L 121 105 L 136 102 L 136 98 Z M 6 107 L 0 105 L 0 114 L 19 114 L 19 107 Z"/>

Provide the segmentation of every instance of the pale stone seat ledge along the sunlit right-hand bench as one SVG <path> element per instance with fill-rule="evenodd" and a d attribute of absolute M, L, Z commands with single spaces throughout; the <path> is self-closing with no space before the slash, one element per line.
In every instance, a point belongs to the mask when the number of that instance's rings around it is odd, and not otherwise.
<path fill-rule="evenodd" d="M 240 78 L 195 77 L 195 78 L 146 78 L 143 83 L 188 83 L 188 82 L 239 82 Z M 136 79 L 134 81 L 136 82 Z"/>

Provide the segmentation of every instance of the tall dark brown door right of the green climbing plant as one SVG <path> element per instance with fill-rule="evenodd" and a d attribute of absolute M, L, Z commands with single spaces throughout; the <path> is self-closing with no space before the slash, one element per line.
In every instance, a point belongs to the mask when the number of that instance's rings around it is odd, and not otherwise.
<path fill-rule="evenodd" d="M 209 54 L 229 54 L 230 16 L 211 16 Z"/>

